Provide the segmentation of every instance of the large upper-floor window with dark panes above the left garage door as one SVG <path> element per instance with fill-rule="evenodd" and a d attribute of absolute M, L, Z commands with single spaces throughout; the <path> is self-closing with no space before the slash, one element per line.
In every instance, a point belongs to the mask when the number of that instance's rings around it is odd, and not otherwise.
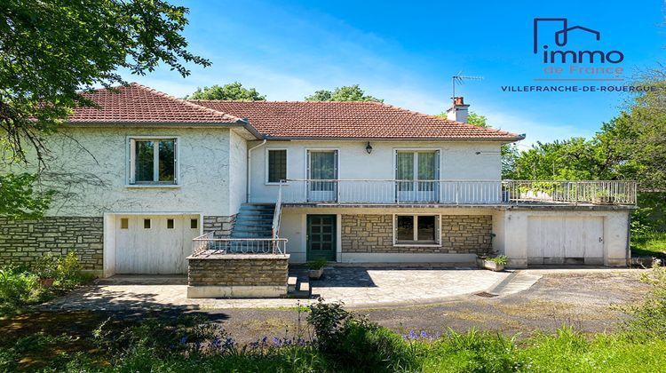
<path fill-rule="evenodd" d="M 131 139 L 130 184 L 178 184 L 176 139 Z"/>

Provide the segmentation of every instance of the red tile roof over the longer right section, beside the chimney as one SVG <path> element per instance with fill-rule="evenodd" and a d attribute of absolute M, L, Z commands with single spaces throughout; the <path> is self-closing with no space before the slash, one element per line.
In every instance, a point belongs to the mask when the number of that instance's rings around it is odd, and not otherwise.
<path fill-rule="evenodd" d="M 248 118 L 250 125 L 269 139 L 496 139 L 507 142 L 521 139 L 507 131 L 449 121 L 378 102 L 190 102 Z"/>

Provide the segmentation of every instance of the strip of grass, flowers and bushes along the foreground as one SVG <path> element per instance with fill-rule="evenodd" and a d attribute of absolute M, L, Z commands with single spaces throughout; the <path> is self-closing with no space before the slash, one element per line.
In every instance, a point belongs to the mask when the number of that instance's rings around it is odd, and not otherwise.
<path fill-rule="evenodd" d="M 0 341 L 0 370 L 659 371 L 666 355 L 666 267 L 654 266 L 641 281 L 651 293 L 623 309 L 630 318 L 607 333 L 562 325 L 554 334 L 529 336 L 479 329 L 399 334 L 320 300 L 297 307 L 297 327 L 250 343 L 210 318 L 180 313 L 109 318 L 76 334 L 35 330 Z"/>

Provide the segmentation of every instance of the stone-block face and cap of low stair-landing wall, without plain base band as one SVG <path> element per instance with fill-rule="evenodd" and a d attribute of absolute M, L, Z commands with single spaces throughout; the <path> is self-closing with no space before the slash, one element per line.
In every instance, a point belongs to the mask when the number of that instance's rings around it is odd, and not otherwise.
<path fill-rule="evenodd" d="M 227 254 L 188 261 L 190 286 L 287 286 L 289 255 Z"/>

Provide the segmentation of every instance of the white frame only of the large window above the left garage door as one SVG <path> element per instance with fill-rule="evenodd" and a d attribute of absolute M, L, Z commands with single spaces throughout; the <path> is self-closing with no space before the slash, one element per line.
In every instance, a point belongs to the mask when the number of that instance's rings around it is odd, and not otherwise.
<path fill-rule="evenodd" d="M 173 141 L 173 182 L 155 181 L 155 175 L 159 179 L 159 151 L 154 152 L 154 181 L 136 181 L 136 142 L 137 141 L 159 141 L 159 140 L 172 140 Z M 178 136 L 128 136 L 126 139 L 127 150 L 127 172 L 126 172 L 126 185 L 125 187 L 163 187 L 172 188 L 180 187 L 180 138 Z M 159 148 L 159 142 L 155 145 Z"/>

